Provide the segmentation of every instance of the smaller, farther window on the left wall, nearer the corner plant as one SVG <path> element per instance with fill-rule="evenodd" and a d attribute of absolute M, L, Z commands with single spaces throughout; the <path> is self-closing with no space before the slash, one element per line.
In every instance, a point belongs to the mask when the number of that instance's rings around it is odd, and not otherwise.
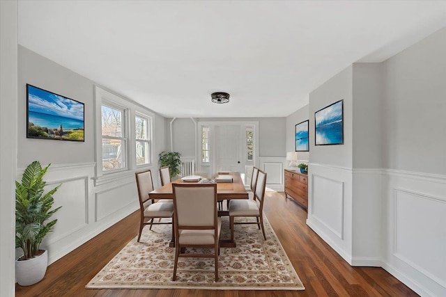
<path fill-rule="evenodd" d="M 151 163 L 151 127 L 148 118 L 136 115 L 134 117 L 135 143 L 137 165 Z"/>

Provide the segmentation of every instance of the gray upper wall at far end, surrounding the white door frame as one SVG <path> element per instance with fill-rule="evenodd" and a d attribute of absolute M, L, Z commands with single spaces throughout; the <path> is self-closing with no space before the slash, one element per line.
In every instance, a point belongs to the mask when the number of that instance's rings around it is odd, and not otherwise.
<path fill-rule="evenodd" d="M 166 122 L 167 147 L 170 150 L 170 121 Z M 197 122 L 256 121 L 259 122 L 259 156 L 286 155 L 286 118 L 197 118 Z M 174 151 L 183 156 L 194 156 L 195 127 L 190 118 L 177 118 L 173 125 Z M 198 135 L 201 137 L 201 135 Z"/>

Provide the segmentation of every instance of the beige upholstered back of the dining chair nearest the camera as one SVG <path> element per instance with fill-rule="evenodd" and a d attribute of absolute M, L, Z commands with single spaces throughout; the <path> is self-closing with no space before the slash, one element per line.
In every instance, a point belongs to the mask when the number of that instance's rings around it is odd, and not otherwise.
<path fill-rule="evenodd" d="M 172 184 L 176 230 L 217 226 L 217 184 Z"/>

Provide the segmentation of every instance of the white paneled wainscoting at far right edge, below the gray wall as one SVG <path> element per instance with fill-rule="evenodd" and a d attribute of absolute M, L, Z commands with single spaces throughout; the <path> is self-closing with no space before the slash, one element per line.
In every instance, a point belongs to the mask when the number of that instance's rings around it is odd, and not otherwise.
<path fill-rule="evenodd" d="M 446 176 L 383 170 L 383 268 L 421 296 L 446 296 Z"/>

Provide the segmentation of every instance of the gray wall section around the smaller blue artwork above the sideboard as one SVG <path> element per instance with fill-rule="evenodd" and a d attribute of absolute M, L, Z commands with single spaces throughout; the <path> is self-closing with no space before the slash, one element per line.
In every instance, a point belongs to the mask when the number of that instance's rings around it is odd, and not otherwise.
<path fill-rule="evenodd" d="M 295 151 L 295 125 L 305 120 L 314 121 L 309 118 L 308 104 L 286 117 L 286 152 Z M 309 142 L 312 141 L 314 143 L 314 131 L 309 131 Z M 298 152 L 298 160 L 308 161 L 309 152 Z"/>

